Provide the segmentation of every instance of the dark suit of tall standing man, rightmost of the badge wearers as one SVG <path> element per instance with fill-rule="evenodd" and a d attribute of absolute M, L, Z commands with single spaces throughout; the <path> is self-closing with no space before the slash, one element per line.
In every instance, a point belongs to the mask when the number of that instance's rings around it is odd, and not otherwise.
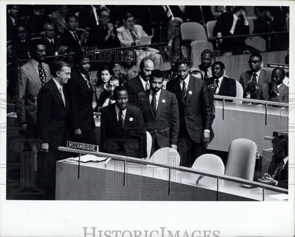
<path fill-rule="evenodd" d="M 178 65 L 178 68 L 180 66 L 182 67 L 182 65 L 183 64 Z M 189 67 L 186 69 L 187 79 Z M 205 81 L 189 75 L 189 83 L 187 85 L 185 99 L 182 94 L 181 83 L 178 77 L 169 81 L 166 85 L 166 89 L 176 94 L 180 118 L 178 150 L 182 154 L 181 165 L 189 167 L 194 163 L 197 157 L 205 152 L 205 145 L 202 143 L 205 132 L 208 132 L 211 128 L 212 105 Z M 208 137 L 204 142 L 209 141 L 209 138 L 210 135 L 208 134 Z M 189 141 L 189 149 L 182 150 L 180 144 L 181 139 L 186 140 L 186 142 Z"/>

